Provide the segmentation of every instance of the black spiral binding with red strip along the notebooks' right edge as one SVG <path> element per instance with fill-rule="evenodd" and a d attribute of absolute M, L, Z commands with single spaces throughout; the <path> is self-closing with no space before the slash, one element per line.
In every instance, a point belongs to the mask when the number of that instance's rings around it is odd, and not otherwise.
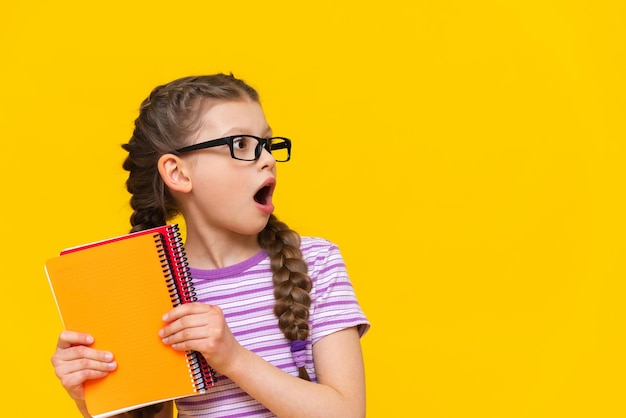
<path fill-rule="evenodd" d="M 198 298 L 189 271 L 180 229 L 177 224 L 172 224 L 165 230 L 167 234 L 154 234 L 154 242 L 161 260 L 172 306 L 196 302 Z M 190 350 L 185 353 L 185 356 L 195 392 L 205 393 L 208 388 L 215 384 L 215 371 L 199 352 Z"/>

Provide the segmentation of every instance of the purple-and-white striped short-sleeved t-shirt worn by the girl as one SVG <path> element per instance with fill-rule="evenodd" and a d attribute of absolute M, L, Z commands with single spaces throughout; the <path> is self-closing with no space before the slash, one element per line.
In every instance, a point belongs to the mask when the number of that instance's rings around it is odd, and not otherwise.
<path fill-rule="evenodd" d="M 300 249 L 313 284 L 305 367 L 316 382 L 312 345 L 326 335 L 354 326 L 362 336 L 370 324 L 356 300 L 337 246 L 321 238 L 303 237 Z M 192 268 L 191 275 L 198 300 L 222 309 L 241 345 L 281 370 L 298 375 L 290 342 L 278 328 L 274 315 L 272 271 L 265 251 L 229 267 Z M 176 405 L 181 418 L 274 416 L 219 373 L 208 393 L 179 399 Z"/>

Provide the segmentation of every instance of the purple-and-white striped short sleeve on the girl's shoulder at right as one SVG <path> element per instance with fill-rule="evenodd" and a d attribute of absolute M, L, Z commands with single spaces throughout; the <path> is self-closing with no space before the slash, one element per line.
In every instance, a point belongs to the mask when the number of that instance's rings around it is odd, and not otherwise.
<path fill-rule="evenodd" d="M 363 336 L 370 322 L 361 309 L 339 248 L 323 239 L 303 243 L 311 289 L 311 342 L 342 329 L 357 327 Z"/>

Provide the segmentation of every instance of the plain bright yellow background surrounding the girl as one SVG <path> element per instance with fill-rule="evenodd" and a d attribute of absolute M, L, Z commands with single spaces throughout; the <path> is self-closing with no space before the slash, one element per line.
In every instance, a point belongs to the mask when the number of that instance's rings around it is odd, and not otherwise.
<path fill-rule="evenodd" d="M 340 245 L 373 323 L 368 416 L 625 416 L 625 18 L 618 0 L 4 1 L 2 415 L 77 416 L 43 263 L 127 231 L 120 144 L 149 91 L 232 71 L 294 140 L 277 214 Z"/>

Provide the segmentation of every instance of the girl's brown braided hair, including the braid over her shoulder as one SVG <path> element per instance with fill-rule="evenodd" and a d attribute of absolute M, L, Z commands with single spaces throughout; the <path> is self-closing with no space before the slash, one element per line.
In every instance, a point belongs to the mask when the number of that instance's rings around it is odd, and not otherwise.
<path fill-rule="evenodd" d="M 158 159 L 185 145 L 207 104 L 241 99 L 259 102 L 259 95 L 232 74 L 215 74 L 174 80 L 156 87 L 143 101 L 133 135 L 122 146 L 128 151 L 123 167 L 129 172 L 126 188 L 133 209 L 131 232 L 165 225 L 179 213 L 159 175 Z M 258 240 L 270 258 L 278 326 L 288 340 L 306 340 L 311 279 L 300 251 L 300 235 L 271 215 Z M 308 380 L 304 367 L 299 374 Z"/>

